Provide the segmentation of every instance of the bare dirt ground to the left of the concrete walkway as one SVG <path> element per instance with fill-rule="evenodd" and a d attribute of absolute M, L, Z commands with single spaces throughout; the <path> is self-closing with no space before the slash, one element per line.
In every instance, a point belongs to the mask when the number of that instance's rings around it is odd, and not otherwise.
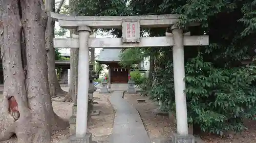
<path fill-rule="evenodd" d="M 112 133 L 114 110 L 108 101 L 109 96 L 110 94 L 94 93 L 94 101 L 98 102 L 98 104 L 94 104 L 93 109 L 99 110 L 100 115 L 92 116 L 88 124 L 88 131 L 93 134 L 93 140 L 100 143 L 108 143 L 108 136 Z M 68 120 L 72 116 L 73 103 L 61 102 L 62 99 L 63 97 L 53 99 L 53 109 L 58 116 Z M 68 143 L 69 136 L 69 127 L 67 127 L 65 130 L 53 133 L 51 143 Z M 16 137 L 6 141 L 0 141 L 0 143 L 14 142 L 16 142 Z"/>

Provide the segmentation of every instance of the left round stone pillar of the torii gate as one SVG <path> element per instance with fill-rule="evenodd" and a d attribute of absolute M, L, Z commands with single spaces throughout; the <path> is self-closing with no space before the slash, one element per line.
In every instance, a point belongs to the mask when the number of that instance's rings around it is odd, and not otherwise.
<path fill-rule="evenodd" d="M 88 40 L 91 28 L 78 26 L 79 55 L 78 55 L 78 87 L 77 87 L 77 113 L 75 137 L 87 139 L 91 136 L 87 133 L 88 115 L 88 89 L 89 89 L 89 45 Z M 72 139 L 71 139 L 72 140 Z"/>

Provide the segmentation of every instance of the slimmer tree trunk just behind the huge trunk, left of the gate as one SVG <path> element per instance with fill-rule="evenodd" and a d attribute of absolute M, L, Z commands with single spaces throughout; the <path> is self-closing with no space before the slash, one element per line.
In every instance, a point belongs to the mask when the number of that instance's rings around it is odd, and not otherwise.
<path fill-rule="evenodd" d="M 54 11 L 55 1 L 46 0 L 46 9 L 48 12 Z M 63 4 L 63 1 L 62 1 Z M 60 4 L 61 8 L 61 4 Z M 60 9 L 59 8 L 59 9 Z M 47 49 L 47 66 L 48 66 L 48 78 L 51 96 L 55 95 L 66 95 L 67 92 L 60 88 L 60 84 L 55 71 L 55 50 L 53 47 L 54 38 L 54 25 L 55 21 L 51 17 L 48 18 L 46 27 L 46 49 Z"/>

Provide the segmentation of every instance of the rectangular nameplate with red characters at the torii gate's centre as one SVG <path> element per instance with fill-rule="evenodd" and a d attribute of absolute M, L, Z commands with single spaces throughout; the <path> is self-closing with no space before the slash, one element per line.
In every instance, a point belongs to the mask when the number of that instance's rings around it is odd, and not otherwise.
<path fill-rule="evenodd" d="M 140 20 L 122 19 L 122 42 L 140 42 Z"/>

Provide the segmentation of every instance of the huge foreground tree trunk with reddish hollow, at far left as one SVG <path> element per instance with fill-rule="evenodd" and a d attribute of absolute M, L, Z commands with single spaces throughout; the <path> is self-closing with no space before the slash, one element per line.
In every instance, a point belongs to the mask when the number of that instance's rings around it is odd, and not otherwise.
<path fill-rule="evenodd" d="M 15 133 L 18 143 L 49 143 L 52 130 L 68 125 L 55 115 L 51 103 L 45 49 L 47 14 L 41 2 L 1 1 L 5 88 L 0 100 L 0 141 Z"/>

